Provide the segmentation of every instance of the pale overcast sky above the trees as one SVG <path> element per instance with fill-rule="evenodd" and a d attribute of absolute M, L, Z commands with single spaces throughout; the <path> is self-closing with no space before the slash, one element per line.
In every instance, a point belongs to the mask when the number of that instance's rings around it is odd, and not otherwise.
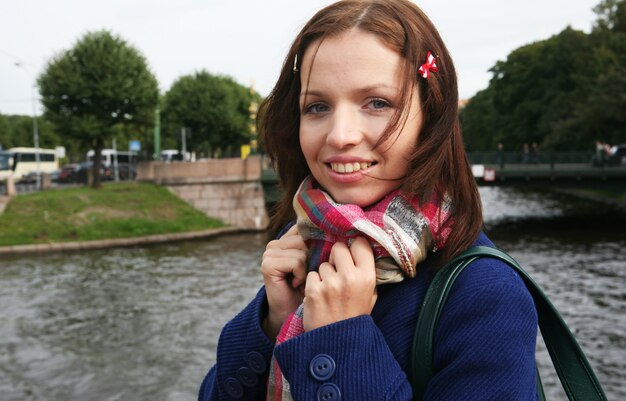
<path fill-rule="evenodd" d="M 600 0 L 421 0 L 459 74 L 461 98 L 487 87 L 514 49 L 589 32 Z M 147 59 L 165 92 L 205 69 L 267 95 L 291 41 L 325 0 L 0 0 L 0 113 L 32 114 L 37 75 L 86 32 L 108 29 Z M 16 65 L 17 64 L 17 65 Z M 42 110 L 37 105 L 37 114 Z"/>

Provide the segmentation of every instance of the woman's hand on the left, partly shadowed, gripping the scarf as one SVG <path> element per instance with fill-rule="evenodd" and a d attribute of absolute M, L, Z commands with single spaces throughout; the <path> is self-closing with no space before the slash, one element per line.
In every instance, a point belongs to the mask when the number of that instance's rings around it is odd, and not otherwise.
<path fill-rule="evenodd" d="M 291 312 L 304 298 L 307 247 L 296 225 L 280 239 L 270 241 L 263 253 L 261 273 L 269 304 L 263 321 L 265 334 L 274 339 Z"/>

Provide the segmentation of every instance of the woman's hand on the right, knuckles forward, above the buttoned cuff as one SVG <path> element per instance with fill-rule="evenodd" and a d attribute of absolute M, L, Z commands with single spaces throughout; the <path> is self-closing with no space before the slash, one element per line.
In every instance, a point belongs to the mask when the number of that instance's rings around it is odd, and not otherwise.
<path fill-rule="evenodd" d="M 304 330 L 369 315 L 376 303 L 374 253 L 365 238 L 333 245 L 328 262 L 306 279 Z"/>

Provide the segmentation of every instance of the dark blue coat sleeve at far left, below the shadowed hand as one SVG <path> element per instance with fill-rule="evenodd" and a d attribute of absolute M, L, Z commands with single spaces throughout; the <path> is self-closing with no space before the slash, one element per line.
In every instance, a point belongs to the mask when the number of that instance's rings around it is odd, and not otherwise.
<path fill-rule="evenodd" d="M 274 344 L 261 328 L 265 289 L 224 326 L 217 361 L 200 386 L 199 401 L 265 399 Z"/>

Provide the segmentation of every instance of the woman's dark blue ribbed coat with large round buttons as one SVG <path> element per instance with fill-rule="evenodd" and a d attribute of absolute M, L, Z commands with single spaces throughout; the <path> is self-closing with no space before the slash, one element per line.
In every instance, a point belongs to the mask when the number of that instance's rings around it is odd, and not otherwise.
<path fill-rule="evenodd" d="M 481 234 L 476 245 L 493 246 Z M 220 335 L 217 363 L 200 401 L 264 400 L 276 356 L 294 400 L 411 400 L 407 380 L 420 305 L 432 274 L 378 287 L 370 316 L 306 332 L 277 347 L 265 336 L 262 288 Z M 434 368 L 425 400 L 536 400 L 537 315 L 520 277 L 481 258 L 454 285 L 434 339 Z"/>

